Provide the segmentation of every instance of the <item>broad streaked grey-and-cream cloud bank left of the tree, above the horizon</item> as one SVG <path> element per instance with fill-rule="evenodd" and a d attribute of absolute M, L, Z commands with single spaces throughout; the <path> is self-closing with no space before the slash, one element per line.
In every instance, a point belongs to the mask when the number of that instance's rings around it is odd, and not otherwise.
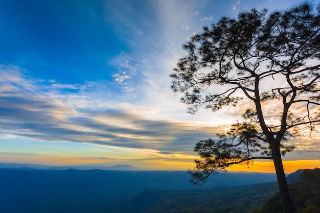
<path fill-rule="evenodd" d="M 27 80 L 28 77 L 19 70 L 6 72 L 9 70 L 12 68 L 4 67 L 2 75 L 11 80 L 3 79 L 0 85 L 0 129 L 3 134 L 44 141 L 154 149 L 166 153 L 189 153 L 197 140 L 212 136 L 209 127 L 199 127 L 196 123 L 152 120 L 139 114 L 147 109 L 90 99 L 95 91 L 79 89 L 76 92 L 81 95 L 75 96 L 74 92 L 59 93 L 49 84 L 42 93 L 41 80 Z M 22 89 L 24 86 L 19 82 L 31 89 Z M 86 104 L 96 107 L 88 108 Z"/>

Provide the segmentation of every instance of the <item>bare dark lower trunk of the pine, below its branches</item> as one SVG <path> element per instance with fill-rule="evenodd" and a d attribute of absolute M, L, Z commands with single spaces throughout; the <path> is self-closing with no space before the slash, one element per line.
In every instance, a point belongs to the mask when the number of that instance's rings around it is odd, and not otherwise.
<path fill-rule="evenodd" d="M 272 151 L 273 163 L 275 164 L 279 191 L 280 191 L 280 196 L 281 196 L 284 211 L 285 213 L 294 213 L 292 201 L 289 194 L 287 179 L 283 169 L 280 147 L 278 146 L 276 148 L 272 148 L 271 151 Z"/>

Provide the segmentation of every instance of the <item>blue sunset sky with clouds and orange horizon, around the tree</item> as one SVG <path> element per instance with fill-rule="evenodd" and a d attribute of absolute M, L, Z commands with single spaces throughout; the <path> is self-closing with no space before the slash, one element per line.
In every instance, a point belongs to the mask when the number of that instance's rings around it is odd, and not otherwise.
<path fill-rule="evenodd" d="M 169 75 L 182 44 L 221 16 L 300 1 L 0 1 L 0 162 L 189 170 L 197 141 L 239 108 L 188 114 Z M 319 136 L 292 140 L 286 172 L 320 165 Z M 231 171 L 274 172 L 271 161 Z"/>

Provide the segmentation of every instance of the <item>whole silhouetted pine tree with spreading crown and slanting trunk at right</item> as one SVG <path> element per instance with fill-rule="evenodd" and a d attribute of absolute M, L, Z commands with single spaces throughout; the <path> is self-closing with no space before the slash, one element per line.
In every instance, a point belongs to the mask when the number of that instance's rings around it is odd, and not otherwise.
<path fill-rule="evenodd" d="M 233 164 L 272 159 L 284 210 L 293 212 L 281 155 L 294 149 L 287 137 L 311 134 L 320 123 L 319 13 L 309 3 L 269 15 L 252 9 L 222 17 L 182 46 L 188 55 L 170 76 L 190 113 L 251 103 L 218 140 L 196 144 L 194 183 Z"/>

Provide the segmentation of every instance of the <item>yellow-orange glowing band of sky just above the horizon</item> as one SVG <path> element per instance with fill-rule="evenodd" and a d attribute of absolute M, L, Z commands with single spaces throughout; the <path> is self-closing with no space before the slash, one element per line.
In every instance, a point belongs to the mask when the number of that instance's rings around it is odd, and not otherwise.
<path fill-rule="evenodd" d="M 131 164 L 134 167 L 143 170 L 192 170 L 195 163 L 192 156 L 184 155 L 161 155 L 149 158 L 107 158 L 107 157 L 94 157 L 94 156 L 63 156 L 63 155 L 33 155 L 25 153 L 12 153 L 0 155 L 2 162 L 15 162 L 15 163 L 29 163 L 29 164 L 47 164 L 55 166 L 67 165 L 100 165 L 111 166 L 115 164 Z M 293 173 L 299 169 L 314 169 L 320 168 L 320 160 L 288 160 L 283 161 L 285 173 Z M 249 168 L 235 164 L 227 169 L 228 172 L 262 172 L 262 173 L 275 173 L 273 162 L 270 161 L 255 161 Z"/>

